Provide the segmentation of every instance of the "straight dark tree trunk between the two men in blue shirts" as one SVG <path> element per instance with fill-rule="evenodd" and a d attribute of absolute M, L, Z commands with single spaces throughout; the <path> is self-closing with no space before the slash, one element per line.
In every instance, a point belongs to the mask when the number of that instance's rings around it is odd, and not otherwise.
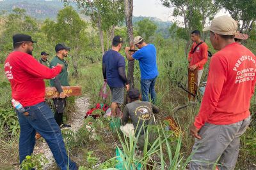
<path fill-rule="evenodd" d="M 132 10 L 133 0 L 124 0 L 125 24 L 127 27 L 127 37 L 129 39 L 130 48 L 133 48 L 133 27 L 132 27 Z M 128 62 L 127 79 L 131 89 L 134 89 L 134 60 Z"/>

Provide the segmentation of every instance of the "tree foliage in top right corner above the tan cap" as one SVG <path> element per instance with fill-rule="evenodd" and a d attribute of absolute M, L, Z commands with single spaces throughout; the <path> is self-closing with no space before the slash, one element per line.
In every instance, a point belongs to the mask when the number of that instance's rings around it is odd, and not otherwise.
<path fill-rule="evenodd" d="M 234 20 L 242 22 L 241 31 L 250 33 L 253 23 L 256 20 L 256 1 L 255 0 L 216 0 L 216 3 L 225 8 Z"/>

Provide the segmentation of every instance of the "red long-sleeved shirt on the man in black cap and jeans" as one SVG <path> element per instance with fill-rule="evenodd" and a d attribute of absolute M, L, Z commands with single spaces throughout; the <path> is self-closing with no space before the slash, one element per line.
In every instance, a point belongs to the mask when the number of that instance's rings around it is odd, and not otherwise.
<path fill-rule="evenodd" d="M 44 79 L 57 76 L 61 72 L 61 67 L 56 66 L 50 69 L 40 64 L 32 55 L 15 51 L 6 58 L 4 71 L 11 83 L 12 98 L 25 107 L 44 101 Z"/>

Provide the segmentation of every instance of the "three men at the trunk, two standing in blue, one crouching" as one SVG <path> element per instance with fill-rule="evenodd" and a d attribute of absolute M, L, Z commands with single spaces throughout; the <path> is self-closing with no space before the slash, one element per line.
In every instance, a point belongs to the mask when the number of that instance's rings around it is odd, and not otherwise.
<path fill-rule="evenodd" d="M 156 124 L 153 113 L 159 113 L 159 109 L 154 105 L 156 103 L 155 83 L 158 76 L 156 47 L 147 44 L 141 36 L 134 38 L 134 46 L 139 50 L 125 47 L 127 60 L 136 59 L 140 64 L 141 97 L 138 89 L 129 89 L 129 82 L 125 74 L 125 59 L 119 53 L 123 43 L 121 36 L 113 38 L 112 49 L 104 53 L 102 58 L 102 73 L 104 81 L 107 81 L 111 89 L 111 115 L 121 117 L 120 129 L 125 136 L 135 135 L 134 137 L 136 137 L 140 132 L 137 145 L 139 148 L 143 148 L 145 127 Z M 122 115 L 118 115 L 117 109 L 124 103 L 125 87 L 131 103 L 125 105 Z M 150 94 L 152 103 L 150 103 L 148 94 Z M 129 118 L 131 118 L 132 124 L 127 124 Z"/>

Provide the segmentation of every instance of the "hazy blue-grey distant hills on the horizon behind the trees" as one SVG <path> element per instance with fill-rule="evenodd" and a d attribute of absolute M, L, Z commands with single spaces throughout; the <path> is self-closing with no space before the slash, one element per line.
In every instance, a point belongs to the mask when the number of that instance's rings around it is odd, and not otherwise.
<path fill-rule="evenodd" d="M 77 9 L 75 3 L 72 3 L 71 5 L 74 9 Z M 64 8 L 64 3 L 60 0 L 0 0 L 0 13 L 1 11 L 4 11 L 8 15 L 9 13 L 12 13 L 14 8 L 22 8 L 26 10 L 27 15 L 38 20 L 44 20 L 45 18 L 56 20 L 58 11 Z M 83 18 L 85 20 L 89 19 L 89 17 L 84 16 Z M 149 18 L 156 23 L 157 33 L 161 32 L 164 38 L 168 38 L 170 36 L 168 29 L 170 28 L 170 25 L 172 25 L 172 22 L 163 22 L 156 17 L 142 16 L 132 17 L 132 22 L 136 23 L 145 18 Z"/>

